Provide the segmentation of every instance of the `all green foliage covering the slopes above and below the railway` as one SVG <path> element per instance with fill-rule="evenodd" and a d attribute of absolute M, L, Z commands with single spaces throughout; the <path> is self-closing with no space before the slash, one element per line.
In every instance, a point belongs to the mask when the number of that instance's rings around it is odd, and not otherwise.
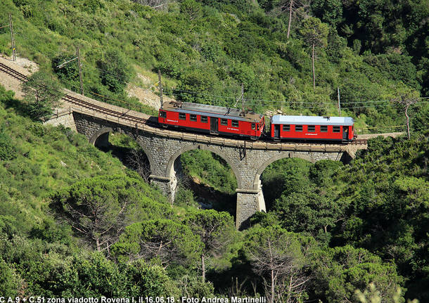
<path fill-rule="evenodd" d="M 373 132 L 404 124 L 393 99 L 429 94 L 425 1 L 314 0 L 293 13 L 290 37 L 284 1 L 170 1 L 159 11 L 137 2 L 4 0 L 0 11 L 13 15 L 18 54 L 46 73 L 34 80 L 53 89 L 53 75 L 78 91 L 77 65 L 57 66 L 79 46 L 86 93 L 138 110 L 127 84 L 158 69 L 180 100 L 232 106 L 243 84 L 245 106 L 260 112 L 335 115 L 338 87 L 343 115 Z M 11 53 L 6 28 L 0 53 Z M 374 139 L 349 165 L 271 164 L 268 212 L 238 232 L 231 215 L 193 209 L 186 186 L 179 207 L 168 205 L 84 136 L 29 120 L 49 106 L 27 95 L 26 104 L 0 87 L 0 295 L 335 303 L 377 289 L 384 302 L 429 300 L 426 99 L 409 110 L 411 140 Z M 136 148 L 129 140 L 118 146 Z M 218 155 L 192 150 L 181 163 L 233 195 Z"/>

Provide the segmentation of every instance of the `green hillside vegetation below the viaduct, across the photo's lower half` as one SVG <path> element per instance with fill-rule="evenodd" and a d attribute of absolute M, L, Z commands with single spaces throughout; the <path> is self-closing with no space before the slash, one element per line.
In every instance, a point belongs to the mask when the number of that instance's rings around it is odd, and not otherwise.
<path fill-rule="evenodd" d="M 238 232 L 226 212 L 168 205 L 84 136 L 17 114 L 12 95 L 0 90 L 6 296 L 363 302 L 359 289 L 404 302 L 401 286 L 407 297 L 428 296 L 429 142 L 422 134 L 371 141 L 346 166 L 274 162 L 262 176 L 269 212 Z"/>

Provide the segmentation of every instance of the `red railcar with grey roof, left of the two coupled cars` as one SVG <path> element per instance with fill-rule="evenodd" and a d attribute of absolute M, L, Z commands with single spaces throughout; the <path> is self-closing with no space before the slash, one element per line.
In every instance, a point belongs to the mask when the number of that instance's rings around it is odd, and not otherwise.
<path fill-rule="evenodd" d="M 255 112 L 174 101 L 165 103 L 160 108 L 158 122 L 163 127 L 248 137 L 253 140 L 260 138 L 265 127 L 264 116 Z"/>

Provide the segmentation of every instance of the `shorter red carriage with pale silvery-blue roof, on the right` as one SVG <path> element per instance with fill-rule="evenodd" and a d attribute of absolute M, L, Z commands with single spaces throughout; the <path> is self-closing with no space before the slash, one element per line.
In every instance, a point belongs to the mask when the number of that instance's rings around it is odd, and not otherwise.
<path fill-rule="evenodd" d="M 350 142 L 354 140 L 351 117 L 312 117 L 274 115 L 270 136 L 274 141 L 319 140 Z"/>

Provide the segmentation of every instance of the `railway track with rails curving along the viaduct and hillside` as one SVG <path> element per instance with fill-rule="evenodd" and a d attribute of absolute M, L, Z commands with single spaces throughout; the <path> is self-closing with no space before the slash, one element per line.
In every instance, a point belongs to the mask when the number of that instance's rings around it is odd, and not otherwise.
<path fill-rule="evenodd" d="M 21 72 L 18 72 L 17 70 L 14 70 L 13 68 L 11 68 L 8 65 L 5 65 L 4 63 L 1 63 L 1 62 L 0 62 L 0 71 L 5 72 L 6 74 L 10 75 L 11 77 L 14 77 L 15 79 L 18 79 L 20 82 L 27 82 L 28 81 L 28 77 L 26 75 L 24 75 Z M 136 115 L 130 115 L 128 113 L 129 110 L 127 110 L 125 108 L 122 112 L 118 111 L 118 110 L 113 110 L 113 109 L 108 108 L 108 107 L 103 107 L 101 105 L 97 105 L 97 104 L 91 103 L 89 101 L 85 101 L 82 98 L 77 98 L 76 96 L 72 96 L 71 94 L 64 94 L 62 100 L 69 103 L 69 104 L 77 105 L 81 108 L 91 110 L 94 112 L 94 114 L 95 114 L 95 112 L 97 112 L 99 115 L 108 115 L 110 117 L 115 117 L 115 118 L 117 118 L 118 121 L 120 119 L 126 120 L 128 122 L 127 123 L 128 125 L 145 124 L 149 127 L 154 127 L 154 128 L 158 129 L 158 124 L 156 122 L 152 122 L 152 121 L 150 121 L 144 117 L 138 117 Z M 96 115 L 94 115 L 94 117 L 96 117 Z M 164 134 L 165 131 L 166 131 L 165 129 L 159 129 L 159 132 L 162 134 Z M 168 132 L 170 133 L 171 131 L 168 131 Z M 175 132 L 181 132 L 181 131 L 175 131 Z M 195 135 L 195 134 L 193 134 L 193 135 Z M 200 135 L 200 136 L 205 136 L 205 137 L 208 137 L 209 139 L 211 137 L 219 138 L 217 136 L 207 136 L 207 135 Z M 172 137 L 177 137 L 177 136 L 172 136 Z M 182 134 L 181 137 L 185 138 L 185 135 Z M 211 141 L 211 140 L 207 140 L 207 141 Z M 216 141 L 218 141 L 218 140 L 216 140 Z M 248 141 L 248 140 L 234 139 L 234 141 L 242 141 L 244 146 L 245 146 L 245 141 Z M 282 143 L 280 143 L 280 142 L 276 143 L 276 142 L 270 141 L 267 138 L 262 139 L 260 141 L 263 141 L 264 146 L 268 147 L 268 145 L 272 145 L 273 149 L 276 149 L 276 146 L 278 146 L 278 145 L 283 146 L 283 144 L 284 144 L 283 142 Z M 349 143 L 348 145 L 363 146 L 363 145 L 366 145 L 366 141 L 367 141 L 366 139 L 356 139 L 352 143 Z M 253 144 L 254 142 L 250 141 L 250 143 L 251 143 L 250 146 L 254 146 L 254 144 Z M 297 145 L 307 145 L 308 144 L 311 146 L 318 146 L 318 145 L 319 146 L 338 146 L 338 145 L 341 145 L 338 143 L 310 143 L 310 142 L 309 143 L 295 143 L 295 144 L 297 144 Z"/>

